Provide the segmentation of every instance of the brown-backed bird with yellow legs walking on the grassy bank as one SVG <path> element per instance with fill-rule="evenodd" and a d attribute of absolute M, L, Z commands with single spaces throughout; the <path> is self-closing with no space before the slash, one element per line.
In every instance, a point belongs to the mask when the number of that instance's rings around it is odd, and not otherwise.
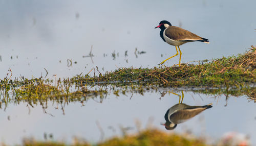
<path fill-rule="evenodd" d="M 209 40 L 206 38 L 202 38 L 194 33 L 191 33 L 187 30 L 184 30 L 182 28 L 179 27 L 175 27 L 172 26 L 170 24 L 169 21 L 166 20 L 162 20 L 159 22 L 159 26 L 155 27 L 156 28 L 160 28 L 160 36 L 163 39 L 163 41 L 165 41 L 166 43 L 170 44 L 170 45 L 174 45 L 176 48 L 176 55 L 171 56 L 167 59 L 165 59 L 164 61 L 162 61 L 161 63 L 159 63 L 158 65 L 162 65 L 165 61 L 169 60 L 170 58 L 173 58 L 175 56 L 177 56 L 178 53 L 178 49 L 177 46 L 179 48 L 180 51 L 180 45 L 187 43 L 187 42 L 193 42 L 193 41 L 201 41 L 201 42 L 205 42 L 205 43 L 209 43 Z M 181 51 L 180 51 L 180 59 L 181 59 Z M 179 60 L 179 66 L 180 66 L 180 60 Z"/>

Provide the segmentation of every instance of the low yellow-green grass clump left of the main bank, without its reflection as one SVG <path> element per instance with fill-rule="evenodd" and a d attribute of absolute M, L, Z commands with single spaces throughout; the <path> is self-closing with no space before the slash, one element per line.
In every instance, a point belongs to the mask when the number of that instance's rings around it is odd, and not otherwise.
<path fill-rule="evenodd" d="M 52 86 L 45 83 L 44 80 L 36 80 L 30 84 L 25 84 L 17 89 L 14 89 L 16 100 L 27 101 L 47 101 L 47 100 L 67 100 L 67 101 L 81 101 L 90 95 L 102 95 L 104 90 L 88 90 L 85 87 L 77 88 L 76 91 L 70 92 L 72 84 L 61 85 L 58 81 L 57 86 Z"/>

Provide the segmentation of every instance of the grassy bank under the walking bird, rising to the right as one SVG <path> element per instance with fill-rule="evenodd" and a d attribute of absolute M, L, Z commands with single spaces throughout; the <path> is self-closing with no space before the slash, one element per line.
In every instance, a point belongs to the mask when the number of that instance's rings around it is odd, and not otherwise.
<path fill-rule="evenodd" d="M 222 57 L 199 65 L 182 64 L 181 67 L 119 68 L 114 72 L 100 74 L 99 77 L 77 76 L 70 81 L 87 84 L 95 82 L 131 84 L 131 81 L 138 81 L 139 83 L 175 87 L 236 86 L 239 88 L 247 86 L 248 83 L 256 82 L 256 53 L 251 49 L 243 55 Z"/>

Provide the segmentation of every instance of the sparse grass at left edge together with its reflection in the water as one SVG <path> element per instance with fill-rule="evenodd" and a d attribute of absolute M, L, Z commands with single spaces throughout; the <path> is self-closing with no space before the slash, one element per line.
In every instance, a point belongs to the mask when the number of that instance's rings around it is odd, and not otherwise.
<path fill-rule="evenodd" d="M 82 85 L 73 87 L 73 84 L 63 84 L 60 80 L 57 81 L 56 86 L 52 85 L 52 81 L 43 79 L 24 79 L 14 82 L 11 80 L 2 82 L 4 84 L 2 84 L 2 88 L 0 87 L 0 91 L 2 92 L 0 94 L 0 109 L 3 104 L 6 108 L 7 104 L 11 102 L 15 104 L 26 102 L 31 107 L 39 103 L 45 109 L 48 107 L 48 101 L 53 101 L 60 105 L 70 102 L 82 103 L 97 96 L 102 99 L 106 93 L 106 90 L 89 90 L 86 86 Z M 72 88 L 75 91 L 72 91 Z"/>

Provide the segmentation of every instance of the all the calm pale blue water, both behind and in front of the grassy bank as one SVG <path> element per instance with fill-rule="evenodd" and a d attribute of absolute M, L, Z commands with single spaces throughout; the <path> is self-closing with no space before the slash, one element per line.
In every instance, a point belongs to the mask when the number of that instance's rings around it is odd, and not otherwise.
<path fill-rule="evenodd" d="M 98 66 L 101 73 L 120 67 L 154 67 L 169 56 L 175 55 L 175 47 L 163 42 L 159 36 L 159 21 L 168 20 L 202 37 L 210 44 L 193 42 L 181 46 L 181 62 L 219 58 L 244 53 L 255 45 L 256 1 L 0 1 L 0 79 L 12 70 L 12 79 L 20 75 L 32 78 L 73 77 L 87 74 Z M 94 57 L 83 57 L 90 53 Z M 146 52 L 135 54 L 135 51 Z M 125 56 L 127 51 L 127 56 Z M 112 57 L 116 54 L 116 58 Z M 161 57 L 162 55 L 162 57 Z M 12 57 L 12 58 L 11 58 Z M 72 60 L 68 66 L 67 60 Z M 77 63 L 75 63 L 75 61 Z M 165 65 L 178 63 L 178 57 Z M 44 133 L 52 133 L 54 139 L 72 136 L 95 142 L 100 138 L 96 121 L 104 131 L 104 138 L 120 135 L 120 126 L 133 127 L 138 119 L 145 127 L 153 118 L 153 126 L 165 129 L 164 114 L 178 103 L 176 95 L 160 93 L 121 95 L 111 94 L 102 103 L 88 101 L 70 103 L 62 110 L 49 104 L 44 114 L 40 106 L 9 104 L 0 109 L 1 141 L 20 143 L 23 137 L 43 139 Z M 218 99 L 203 94 L 185 92 L 183 103 L 206 105 L 211 109 L 179 124 L 170 132 L 191 130 L 195 135 L 220 138 L 228 131 L 250 135 L 256 144 L 255 111 L 253 102 L 245 96 Z M 8 119 L 9 116 L 9 119 Z M 151 120 L 150 120 L 151 121 Z M 110 129 L 113 127 L 115 130 Z M 114 132 L 115 131 L 115 132 Z"/>

